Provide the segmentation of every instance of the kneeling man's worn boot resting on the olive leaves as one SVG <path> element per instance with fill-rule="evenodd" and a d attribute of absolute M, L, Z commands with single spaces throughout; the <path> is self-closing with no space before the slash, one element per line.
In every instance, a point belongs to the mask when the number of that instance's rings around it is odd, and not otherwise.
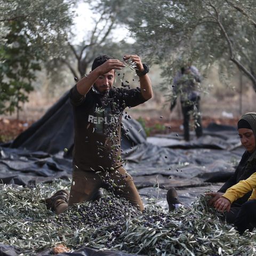
<path fill-rule="evenodd" d="M 58 206 L 60 206 L 60 204 L 65 204 L 65 206 L 63 206 L 67 208 L 66 205 L 68 204 L 68 198 L 69 192 L 66 189 L 61 189 L 58 190 L 53 196 L 43 199 L 43 201 L 45 202 L 47 209 L 51 209 L 59 214 L 61 212 L 57 211 Z"/>

